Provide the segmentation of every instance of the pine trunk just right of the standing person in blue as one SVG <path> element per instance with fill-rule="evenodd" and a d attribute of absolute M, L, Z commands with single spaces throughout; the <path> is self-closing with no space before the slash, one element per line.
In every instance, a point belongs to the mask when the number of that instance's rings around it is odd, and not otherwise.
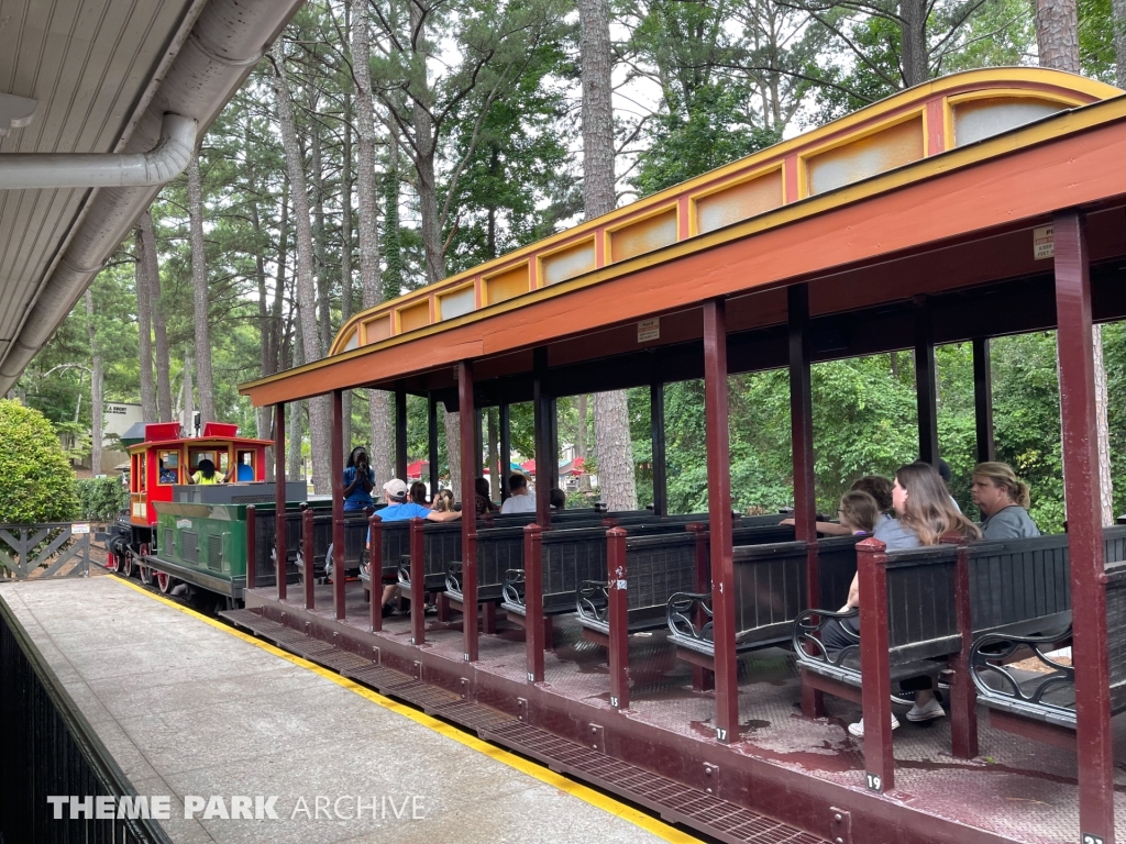
<path fill-rule="evenodd" d="M 356 74 L 356 191 L 359 201 L 359 277 L 364 307 L 383 302 L 379 279 L 378 188 L 375 176 L 375 104 L 372 100 L 372 42 L 367 0 L 351 0 L 352 69 Z M 372 424 L 372 470 L 382 485 L 395 473 L 392 456 L 391 402 L 379 389 L 368 390 Z"/>

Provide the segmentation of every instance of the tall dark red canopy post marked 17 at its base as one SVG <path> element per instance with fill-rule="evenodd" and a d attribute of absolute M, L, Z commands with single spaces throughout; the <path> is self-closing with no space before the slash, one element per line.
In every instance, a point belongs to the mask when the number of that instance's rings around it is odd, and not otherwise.
<path fill-rule="evenodd" d="M 712 612 L 715 634 L 715 733 L 739 740 L 735 661 L 735 569 L 731 550 L 731 454 L 727 439 L 727 311 L 704 303 L 704 403 L 707 419 L 708 517 L 712 532 Z"/>

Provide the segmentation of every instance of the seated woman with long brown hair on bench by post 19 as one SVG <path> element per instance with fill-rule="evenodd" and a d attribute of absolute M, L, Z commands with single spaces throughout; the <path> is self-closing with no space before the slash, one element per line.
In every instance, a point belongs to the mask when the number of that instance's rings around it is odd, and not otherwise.
<path fill-rule="evenodd" d="M 881 522 L 874 535 L 890 551 L 938 545 L 942 541 L 942 537 L 949 533 L 965 539 L 981 537 L 977 526 L 955 510 L 946 491 L 946 484 L 930 464 L 913 463 L 896 470 L 895 483 L 892 486 L 892 506 L 895 509 L 896 518 Z M 848 603 L 842 610 L 859 605 L 859 573 L 857 573 L 849 589 Z M 842 619 L 839 623 L 848 626 L 854 635 L 860 632 L 859 618 Z M 855 641 L 833 623 L 825 625 L 821 640 L 829 650 L 839 650 Z M 946 715 L 941 704 L 935 699 L 929 676 L 904 680 L 900 683 L 900 689 L 914 693 L 914 706 L 908 712 L 909 721 L 929 721 Z M 900 722 L 893 715 L 892 729 L 899 726 Z M 864 738 L 864 719 L 850 724 L 848 731 L 857 738 Z"/>

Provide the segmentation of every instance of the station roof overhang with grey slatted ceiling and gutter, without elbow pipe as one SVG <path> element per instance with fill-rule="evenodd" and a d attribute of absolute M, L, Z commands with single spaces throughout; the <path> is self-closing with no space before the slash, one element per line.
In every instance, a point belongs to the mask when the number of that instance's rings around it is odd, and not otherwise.
<path fill-rule="evenodd" d="M 0 0 L 0 161 L 150 152 L 166 115 L 194 120 L 198 143 L 300 6 Z M 17 190 L 0 179 L 0 395 L 160 187 Z"/>

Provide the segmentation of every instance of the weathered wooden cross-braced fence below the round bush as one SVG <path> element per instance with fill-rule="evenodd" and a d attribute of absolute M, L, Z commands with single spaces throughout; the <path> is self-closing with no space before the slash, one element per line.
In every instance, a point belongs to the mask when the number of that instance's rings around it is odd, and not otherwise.
<path fill-rule="evenodd" d="M 89 522 L 0 524 L 0 576 L 87 577 Z"/>

